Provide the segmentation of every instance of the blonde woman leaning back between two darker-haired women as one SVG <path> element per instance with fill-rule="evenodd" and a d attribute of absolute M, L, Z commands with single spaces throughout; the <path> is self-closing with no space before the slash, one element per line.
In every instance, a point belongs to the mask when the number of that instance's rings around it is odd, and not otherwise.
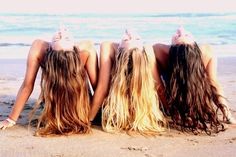
<path fill-rule="evenodd" d="M 98 87 L 93 97 L 90 120 L 102 105 L 102 127 L 107 132 L 138 132 L 144 135 L 164 131 L 159 109 L 152 47 L 126 31 L 120 43 L 101 45 Z M 154 73 L 153 73 L 154 72 Z"/>

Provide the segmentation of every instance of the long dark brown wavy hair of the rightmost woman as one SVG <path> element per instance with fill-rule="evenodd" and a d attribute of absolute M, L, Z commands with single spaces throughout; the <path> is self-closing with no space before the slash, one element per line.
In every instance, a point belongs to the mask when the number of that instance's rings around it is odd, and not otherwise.
<path fill-rule="evenodd" d="M 207 134 L 224 129 L 218 110 L 225 113 L 225 105 L 208 77 L 198 45 L 172 45 L 169 50 L 167 91 L 170 114 L 174 124 L 194 133 Z"/>

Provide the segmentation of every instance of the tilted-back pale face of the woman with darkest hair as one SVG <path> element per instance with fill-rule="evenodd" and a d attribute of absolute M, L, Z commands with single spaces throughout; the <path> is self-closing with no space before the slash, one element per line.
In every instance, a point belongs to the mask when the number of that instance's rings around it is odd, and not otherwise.
<path fill-rule="evenodd" d="M 171 42 L 172 45 L 180 45 L 180 44 L 193 45 L 195 43 L 195 40 L 190 32 L 186 31 L 183 27 L 180 27 L 173 35 Z"/>

